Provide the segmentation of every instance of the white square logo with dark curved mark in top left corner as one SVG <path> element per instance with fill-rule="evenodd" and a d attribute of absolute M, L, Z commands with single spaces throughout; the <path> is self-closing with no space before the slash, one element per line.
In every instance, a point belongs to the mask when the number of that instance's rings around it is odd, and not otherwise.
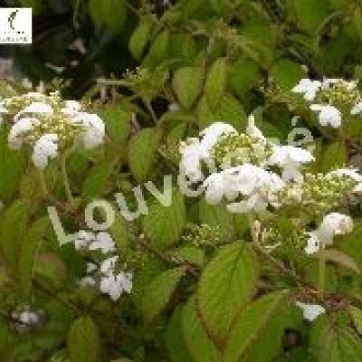
<path fill-rule="evenodd" d="M 0 43 L 31 44 L 32 20 L 31 7 L 0 8 Z"/>

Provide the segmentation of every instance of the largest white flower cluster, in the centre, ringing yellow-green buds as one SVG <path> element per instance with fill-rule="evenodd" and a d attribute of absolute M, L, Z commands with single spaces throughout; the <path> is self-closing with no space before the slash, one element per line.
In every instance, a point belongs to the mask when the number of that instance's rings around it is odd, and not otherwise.
<path fill-rule="evenodd" d="M 237 135 L 238 132 L 228 124 L 217 122 L 200 133 L 201 140 L 189 138 L 180 148 L 181 172 L 191 182 L 203 181 L 206 201 L 218 204 L 225 198 L 230 202 L 227 205 L 228 210 L 233 213 L 261 212 L 268 205 L 278 207 L 279 191 L 287 182 L 302 181 L 300 167 L 312 161 L 314 157 L 302 148 L 271 144 L 255 126 L 251 116 L 246 135 L 241 135 L 241 138 L 248 139 L 247 152 L 262 157 L 239 157 L 240 164 L 233 167 L 230 162 L 219 162 L 222 166 L 222 170 L 219 171 L 215 167 L 214 149 L 221 143 L 226 151 L 230 150 L 232 153 L 229 155 L 225 152 L 225 159 L 233 157 L 235 151 L 239 155 L 246 154 L 243 148 L 231 148 L 224 142 L 231 134 Z M 269 156 L 266 157 L 267 155 Z M 203 166 L 209 168 L 210 175 L 206 178 L 202 172 Z M 280 170 L 281 175 L 278 175 L 277 171 L 271 171 L 271 167 L 273 170 Z"/>

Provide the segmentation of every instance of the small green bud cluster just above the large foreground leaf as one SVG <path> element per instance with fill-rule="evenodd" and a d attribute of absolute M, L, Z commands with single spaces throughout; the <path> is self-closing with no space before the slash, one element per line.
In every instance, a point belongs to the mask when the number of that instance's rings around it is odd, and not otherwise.
<path fill-rule="evenodd" d="M 193 243 L 195 246 L 215 246 L 220 243 L 220 226 L 193 225 L 191 232 L 182 236 L 182 239 L 185 242 Z"/>

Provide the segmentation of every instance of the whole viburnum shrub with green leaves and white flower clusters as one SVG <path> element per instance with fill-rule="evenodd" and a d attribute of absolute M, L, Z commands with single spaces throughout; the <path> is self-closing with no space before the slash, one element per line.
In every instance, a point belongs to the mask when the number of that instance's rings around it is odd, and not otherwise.
<path fill-rule="evenodd" d="M 361 360 L 342 3 L 142 2 L 121 79 L 1 82 L 1 360 Z"/>

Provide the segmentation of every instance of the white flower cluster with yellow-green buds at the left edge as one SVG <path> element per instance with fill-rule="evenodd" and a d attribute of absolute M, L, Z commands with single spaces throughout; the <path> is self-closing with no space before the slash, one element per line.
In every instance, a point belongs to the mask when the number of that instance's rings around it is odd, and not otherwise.
<path fill-rule="evenodd" d="M 11 122 L 9 147 L 33 148 L 33 165 L 43 169 L 74 142 L 84 148 L 103 143 L 105 126 L 99 116 L 81 110 L 76 100 L 63 101 L 57 92 L 49 96 L 29 92 L 0 101 L 0 114 Z"/>

